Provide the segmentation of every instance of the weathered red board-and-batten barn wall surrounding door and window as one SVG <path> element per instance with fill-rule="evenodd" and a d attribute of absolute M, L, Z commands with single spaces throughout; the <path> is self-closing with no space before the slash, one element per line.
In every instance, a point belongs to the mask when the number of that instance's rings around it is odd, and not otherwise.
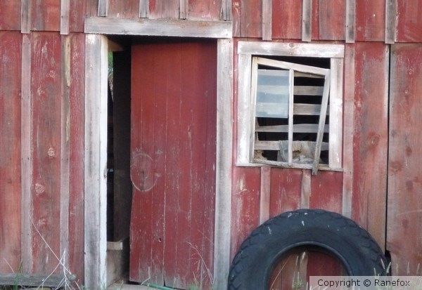
<path fill-rule="evenodd" d="M 236 40 L 345 44 L 343 173 L 234 161 L 232 255 L 260 217 L 309 206 L 350 214 L 391 252 L 396 274 L 422 262 L 422 4 L 354 2 L 108 1 L 109 18 L 187 21 L 230 19 L 231 4 Z M 20 261 L 23 272 L 49 274 L 66 249 L 83 277 L 84 19 L 105 3 L 0 1 L 1 274 Z M 236 63 L 234 72 L 236 101 Z"/>

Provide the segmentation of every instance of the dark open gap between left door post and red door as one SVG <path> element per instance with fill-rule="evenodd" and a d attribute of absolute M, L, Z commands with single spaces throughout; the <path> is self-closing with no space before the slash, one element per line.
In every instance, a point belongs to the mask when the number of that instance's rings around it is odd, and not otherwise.
<path fill-rule="evenodd" d="M 107 124 L 107 284 L 124 279 L 129 270 L 130 74 L 128 41 L 108 41 Z"/>

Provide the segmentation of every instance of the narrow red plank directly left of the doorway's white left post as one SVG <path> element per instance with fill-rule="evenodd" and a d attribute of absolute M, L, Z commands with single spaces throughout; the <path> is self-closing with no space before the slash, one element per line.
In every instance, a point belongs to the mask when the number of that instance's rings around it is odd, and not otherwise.
<path fill-rule="evenodd" d="M 80 281 L 84 277 L 84 84 L 85 84 L 85 36 L 70 34 L 70 86 L 69 107 L 66 118 L 66 139 L 69 147 L 69 225 L 68 269 Z M 81 73 L 82 72 L 82 73 Z M 64 251 L 64 249 L 63 249 Z M 62 251 L 62 253 L 63 253 Z"/>

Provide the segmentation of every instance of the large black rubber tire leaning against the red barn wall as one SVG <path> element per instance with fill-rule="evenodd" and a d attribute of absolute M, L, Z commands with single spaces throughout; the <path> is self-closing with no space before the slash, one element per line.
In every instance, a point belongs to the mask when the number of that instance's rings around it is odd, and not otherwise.
<path fill-rule="evenodd" d="M 350 218 L 300 209 L 267 220 L 245 239 L 231 264 L 228 289 L 268 289 L 279 258 L 302 247 L 335 256 L 349 276 L 385 275 L 388 265 L 371 235 Z"/>

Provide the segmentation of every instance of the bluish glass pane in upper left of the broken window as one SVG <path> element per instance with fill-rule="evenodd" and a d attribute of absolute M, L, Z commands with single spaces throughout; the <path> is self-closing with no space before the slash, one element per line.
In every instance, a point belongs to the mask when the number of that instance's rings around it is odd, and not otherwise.
<path fill-rule="evenodd" d="M 288 96 L 288 70 L 258 70 L 257 117 L 287 118 Z"/>

